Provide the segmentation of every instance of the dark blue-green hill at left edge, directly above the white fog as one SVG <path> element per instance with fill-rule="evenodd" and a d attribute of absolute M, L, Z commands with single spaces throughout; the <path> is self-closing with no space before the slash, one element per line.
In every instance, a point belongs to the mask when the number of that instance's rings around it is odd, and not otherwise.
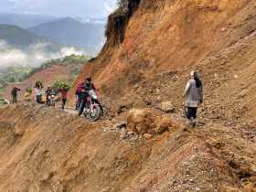
<path fill-rule="evenodd" d="M 0 39 L 18 48 L 27 48 L 38 42 L 50 42 L 45 37 L 37 37 L 26 29 L 11 25 L 0 25 Z"/>

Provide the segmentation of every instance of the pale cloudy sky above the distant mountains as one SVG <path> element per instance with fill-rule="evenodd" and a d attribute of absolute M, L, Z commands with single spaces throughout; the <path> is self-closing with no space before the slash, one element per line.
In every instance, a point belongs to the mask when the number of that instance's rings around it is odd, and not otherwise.
<path fill-rule="evenodd" d="M 116 0 L 0 0 L 0 12 L 51 16 L 107 16 Z"/>

